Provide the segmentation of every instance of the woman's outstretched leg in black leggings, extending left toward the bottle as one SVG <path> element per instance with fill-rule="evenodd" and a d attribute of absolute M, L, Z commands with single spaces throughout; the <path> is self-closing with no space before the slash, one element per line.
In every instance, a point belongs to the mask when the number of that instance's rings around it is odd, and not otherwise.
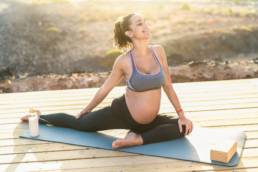
<path fill-rule="evenodd" d="M 92 111 L 79 119 L 66 113 L 53 113 L 41 115 L 39 121 L 43 124 L 52 124 L 83 131 L 127 128 L 125 123 L 112 113 L 110 106 Z"/>

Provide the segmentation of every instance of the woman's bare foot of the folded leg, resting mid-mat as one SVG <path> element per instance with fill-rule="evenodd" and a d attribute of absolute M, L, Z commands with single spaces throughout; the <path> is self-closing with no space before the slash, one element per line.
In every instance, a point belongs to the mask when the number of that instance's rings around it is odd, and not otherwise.
<path fill-rule="evenodd" d="M 125 147 L 125 146 L 135 146 L 135 145 L 142 145 L 143 140 L 141 135 L 136 134 L 134 132 L 129 132 L 127 136 L 123 139 L 116 139 L 112 143 L 112 148 L 117 149 L 120 147 Z"/>

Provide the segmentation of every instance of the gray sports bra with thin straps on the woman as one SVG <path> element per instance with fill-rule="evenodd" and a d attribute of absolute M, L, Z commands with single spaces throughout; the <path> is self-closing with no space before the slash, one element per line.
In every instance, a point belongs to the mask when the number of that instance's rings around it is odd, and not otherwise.
<path fill-rule="evenodd" d="M 130 53 L 130 59 L 132 62 L 133 71 L 132 71 L 131 77 L 127 81 L 127 87 L 130 90 L 133 90 L 136 92 L 142 92 L 142 91 L 160 88 L 164 83 L 164 71 L 152 47 L 151 47 L 151 52 L 154 56 L 154 59 L 157 61 L 157 63 L 160 66 L 160 71 L 156 74 L 140 73 L 136 68 L 136 65 L 133 59 L 133 54 L 131 51 L 132 50 L 130 50 L 129 53 Z"/>

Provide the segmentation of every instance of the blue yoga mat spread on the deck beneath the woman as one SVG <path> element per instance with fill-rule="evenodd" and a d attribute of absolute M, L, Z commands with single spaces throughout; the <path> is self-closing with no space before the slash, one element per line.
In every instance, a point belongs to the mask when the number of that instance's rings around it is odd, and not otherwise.
<path fill-rule="evenodd" d="M 112 141 L 117 137 L 103 133 L 83 132 L 42 124 L 39 126 L 39 130 L 40 135 L 37 137 L 31 137 L 28 129 L 24 131 L 20 137 L 222 166 L 236 166 L 238 164 L 246 139 L 245 133 L 241 130 L 195 127 L 190 135 L 183 138 L 140 146 L 112 149 Z M 234 154 L 229 163 L 210 160 L 211 144 L 219 143 L 223 140 L 236 141 L 238 146 L 237 153 Z"/>

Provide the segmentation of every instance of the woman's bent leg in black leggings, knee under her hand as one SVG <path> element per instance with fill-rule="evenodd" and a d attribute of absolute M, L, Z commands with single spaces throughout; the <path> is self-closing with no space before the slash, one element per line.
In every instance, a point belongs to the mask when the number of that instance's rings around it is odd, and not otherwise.
<path fill-rule="evenodd" d="M 158 115 L 150 124 L 139 127 L 143 144 L 161 142 L 184 136 L 180 133 L 178 118 L 167 115 Z"/>

